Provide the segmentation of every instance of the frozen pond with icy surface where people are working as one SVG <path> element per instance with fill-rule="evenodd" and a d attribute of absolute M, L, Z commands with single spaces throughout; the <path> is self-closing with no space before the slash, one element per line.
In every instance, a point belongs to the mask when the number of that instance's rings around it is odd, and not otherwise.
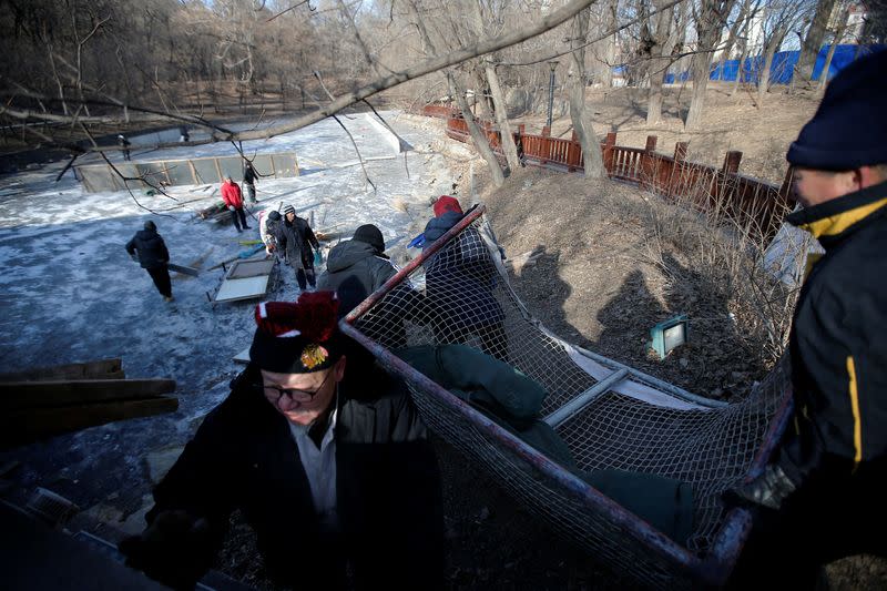
<path fill-rule="evenodd" d="M 398 123 L 395 113 L 383 115 L 412 146 L 435 139 L 431 131 Z M 313 215 L 315 230 L 335 228 L 346 238 L 358 225 L 375 223 L 389 252 L 402 248 L 411 238 L 409 225 L 431 215 L 425 206 L 428 198 L 448 193 L 452 175 L 442 156 L 427 151 L 408 152 L 405 162 L 397 140 L 370 116 L 340 120 L 361 155 L 371 159 L 366 169 L 376 191 L 356 164 L 348 136 L 327 119 L 286 135 L 244 142 L 248 155 L 295 152 L 302 169 L 296 179 L 259 180 L 259 203 L 247 208 L 255 215 L 292 203 L 303 217 Z M 192 139 L 198 137 L 193 131 Z M 236 153 L 230 143 L 161 153 L 140 147 L 139 137 L 132 141 L 133 160 Z M 180 410 L 62 436 L 0 454 L 0 460 L 22 462 L 16 477 L 20 493 L 43 486 L 81 508 L 101 508 L 105 520 L 105 513 L 118 511 L 125 518 L 150 490 L 149 452 L 181 446 L 196 419 L 227 395 L 228 381 L 242 368 L 232 357 L 249 344 L 257 300 L 211 305 L 206 293 L 217 288 L 220 268 L 198 277 L 173 273 L 175 302 L 166 304 L 123 246 L 153 220 L 172 262 L 206 269 L 242 251 L 238 240 L 257 238 L 258 224 L 248 217 L 252 230 L 237 234 L 233 225 L 197 218 L 196 211 L 220 201 L 217 185 L 173 186 L 169 193 L 175 201 L 141 190 L 132 195 L 84 193 L 70 172 L 54 182 L 62 165 L 0 177 L 0 371 L 120 357 L 128 377 L 175 379 Z M 411 205 L 410 213 L 405 204 Z M 283 286 L 269 298 L 296 297 L 292 271 L 284 268 L 282 276 Z"/>

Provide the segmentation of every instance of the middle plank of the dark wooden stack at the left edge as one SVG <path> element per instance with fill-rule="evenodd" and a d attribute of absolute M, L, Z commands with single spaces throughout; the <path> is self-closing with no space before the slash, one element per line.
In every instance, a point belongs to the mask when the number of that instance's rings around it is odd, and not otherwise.
<path fill-rule="evenodd" d="M 174 379 L 84 379 L 0 384 L 0 408 L 47 408 L 144 398 L 175 390 Z"/>

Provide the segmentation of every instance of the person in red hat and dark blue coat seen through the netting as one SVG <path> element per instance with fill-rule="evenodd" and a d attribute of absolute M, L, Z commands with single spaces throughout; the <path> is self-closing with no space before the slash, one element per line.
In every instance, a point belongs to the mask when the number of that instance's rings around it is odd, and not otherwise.
<path fill-rule="evenodd" d="M 425 226 L 422 249 L 465 217 L 459 202 L 449 195 L 438 198 L 434 211 L 435 217 Z M 425 262 L 426 314 L 438 344 L 468 343 L 477 336 L 483 353 L 508 363 L 504 313 L 492 295 L 497 275 L 473 227 Z"/>

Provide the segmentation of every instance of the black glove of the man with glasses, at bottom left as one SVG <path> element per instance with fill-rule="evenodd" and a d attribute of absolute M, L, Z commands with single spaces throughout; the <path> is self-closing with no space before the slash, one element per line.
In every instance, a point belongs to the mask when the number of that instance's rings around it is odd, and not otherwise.
<path fill-rule="evenodd" d="M 194 589 L 213 560 L 210 523 L 187 511 L 162 511 L 142 532 L 121 541 L 126 565 L 173 589 Z"/>

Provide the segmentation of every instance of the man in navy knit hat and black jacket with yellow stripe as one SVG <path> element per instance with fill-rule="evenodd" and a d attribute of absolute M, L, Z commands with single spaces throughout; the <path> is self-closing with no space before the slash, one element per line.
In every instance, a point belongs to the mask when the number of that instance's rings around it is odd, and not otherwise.
<path fill-rule="evenodd" d="M 734 492 L 755 516 L 745 585 L 812 587 L 818 567 L 887 550 L 887 52 L 829 84 L 788 150 L 813 234 L 789 337 L 794 420 L 764 473 Z M 782 580 L 784 579 L 784 581 Z"/>

